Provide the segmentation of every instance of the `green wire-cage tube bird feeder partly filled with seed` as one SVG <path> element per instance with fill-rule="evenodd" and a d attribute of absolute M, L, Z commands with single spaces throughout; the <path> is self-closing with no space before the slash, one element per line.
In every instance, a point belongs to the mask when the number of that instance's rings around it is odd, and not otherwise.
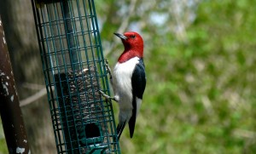
<path fill-rule="evenodd" d="M 58 153 L 120 153 L 93 0 L 32 0 Z"/>

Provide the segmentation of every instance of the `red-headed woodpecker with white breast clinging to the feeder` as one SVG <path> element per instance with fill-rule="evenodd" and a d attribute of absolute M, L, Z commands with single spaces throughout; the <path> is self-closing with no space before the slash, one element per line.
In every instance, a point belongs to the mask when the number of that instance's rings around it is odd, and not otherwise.
<path fill-rule="evenodd" d="M 132 138 L 146 87 L 143 38 L 134 31 L 125 32 L 124 35 L 119 33 L 114 33 L 114 35 L 119 37 L 125 46 L 124 52 L 114 66 L 111 79 L 113 99 L 119 104 L 118 138 L 126 123 L 129 123 L 130 137 Z"/>

